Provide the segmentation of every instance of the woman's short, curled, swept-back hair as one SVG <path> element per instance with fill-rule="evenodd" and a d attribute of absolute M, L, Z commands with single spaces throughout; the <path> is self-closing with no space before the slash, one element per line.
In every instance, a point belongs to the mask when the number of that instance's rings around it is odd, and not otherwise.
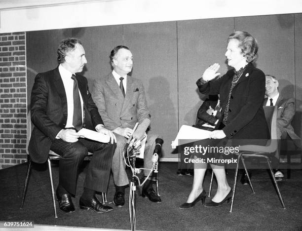
<path fill-rule="evenodd" d="M 239 41 L 238 47 L 241 49 L 243 56 L 246 57 L 247 62 L 253 62 L 257 59 L 258 42 L 248 32 L 235 31 L 229 35 L 227 42 L 230 39 Z"/>

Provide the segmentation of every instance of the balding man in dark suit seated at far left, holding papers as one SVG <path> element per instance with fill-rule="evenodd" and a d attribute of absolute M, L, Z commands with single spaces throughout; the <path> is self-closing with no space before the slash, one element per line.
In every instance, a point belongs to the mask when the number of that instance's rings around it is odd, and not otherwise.
<path fill-rule="evenodd" d="M 76 194 L 78 167 L 88 151 L 93 152 L 79 206 L 83 210 L 108 212 L 113 208 L 102 205 L 95 194 L 107 191 L 116 138 L 104 127 L 87 79 L 77 74 L 87 63 L 81 42 L 73 38 L 62 40 L 57 53 L 59 66 L 35 78 L 31 96 L 31 119 L 35 128 L 29 154 L 37 163 L 47 160 L 49 150 L 61 155 L 56 194 L 60 209 L 71 213 L 75 211 L 71 194 Z M 76 131 L 82 127 L 109 135 L 111 144 L 80 138 Z"/>

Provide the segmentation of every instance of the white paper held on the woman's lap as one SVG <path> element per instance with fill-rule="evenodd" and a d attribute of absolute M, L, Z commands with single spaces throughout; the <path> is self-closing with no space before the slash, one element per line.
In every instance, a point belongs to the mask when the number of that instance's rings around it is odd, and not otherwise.
<path fill-rule="evenodd" d="M 172 149 L 175 149 L 176 146 L 179 145 L 178 140 L 203 140 L 210 138 L 211 131 L 199 129 L 196 127 L 183 125 L 175 138 L 174 141 L 172 141 Z"/>

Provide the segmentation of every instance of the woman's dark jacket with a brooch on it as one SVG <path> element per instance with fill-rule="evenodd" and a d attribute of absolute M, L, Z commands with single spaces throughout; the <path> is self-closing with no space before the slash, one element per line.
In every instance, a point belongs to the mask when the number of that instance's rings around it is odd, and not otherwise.
<path fill-rule="evenodd" d="M 227 104 L 234 69 L 223 77 L 201 84 L 203 94 L 220 94 L 222 112 Z M 265 94 L 265 75 L 249 63 L 232 90 L 227 125 L 223 128 L 229 139 L 268 139 L 269 130 L 264 116 L 263 99 Z M 221 123 L 221 120 L 219 121 Z"/>

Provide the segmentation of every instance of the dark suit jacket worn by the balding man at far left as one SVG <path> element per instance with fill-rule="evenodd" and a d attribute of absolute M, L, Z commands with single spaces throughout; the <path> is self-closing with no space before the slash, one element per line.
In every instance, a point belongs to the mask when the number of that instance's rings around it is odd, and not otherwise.
<path fill-rule="evenodd" d="M 104 124 L 88 90 L 87 79 L 76 74 L 78 88 L 83 99 L 83 127 L 95 130 Z M 31 95 L 31 119 L 35 127 L 31 135 L 28 151 L 34 162 L 47 160 L 52 140 L 67 121 L 67 98 L 59 69 L 39 73 Z"/>

